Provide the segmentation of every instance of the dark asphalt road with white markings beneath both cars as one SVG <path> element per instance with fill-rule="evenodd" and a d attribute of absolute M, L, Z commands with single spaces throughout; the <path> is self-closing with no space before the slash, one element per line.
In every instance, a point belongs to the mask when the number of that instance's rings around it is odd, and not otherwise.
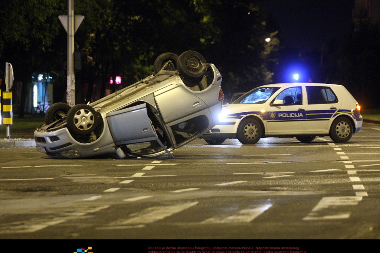
<path fill-rule="evenodd" d="M 0 149 L 1 239 L 380 239 L 380 125 L 350 142 L 198 139 L 175 160 Z"/>

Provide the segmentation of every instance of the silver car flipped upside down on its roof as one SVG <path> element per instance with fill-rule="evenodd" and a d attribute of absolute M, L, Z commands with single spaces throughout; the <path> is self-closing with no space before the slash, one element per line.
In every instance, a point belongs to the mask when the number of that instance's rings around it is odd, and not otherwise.
<path fill-rule="evenodd" d="M 105 154 L 153 157 L 198 138 L 218 123 L 222 76 L 195 51 L 164 53 L 154 74 L 90 104 L 55 103 L 35 132 L 54 158 Z M 137 143 L 141 147 L 136 148 Z M 133 145 L 131 145 L 133 144 Z"/>

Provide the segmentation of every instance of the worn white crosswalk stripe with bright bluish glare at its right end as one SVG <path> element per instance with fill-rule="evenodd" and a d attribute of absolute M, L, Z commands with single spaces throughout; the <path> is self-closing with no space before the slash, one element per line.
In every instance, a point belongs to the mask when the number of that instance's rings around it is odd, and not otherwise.
<path fill-rule="evenodd" d="M 248 223 L 258 217 L 261 213 L 268 210 L 272 204 L 261 205 L 252 209 L 243 209 L 234 215 L 228 217 L 212 217 L 207 220 L 202 221 L 202 224 L 206 223 Z"/>

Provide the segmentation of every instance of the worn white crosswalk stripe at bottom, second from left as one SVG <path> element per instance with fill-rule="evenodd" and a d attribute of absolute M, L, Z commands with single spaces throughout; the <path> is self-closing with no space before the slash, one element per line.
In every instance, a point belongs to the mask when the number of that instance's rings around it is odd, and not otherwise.
<path fill-rule="evenodd" d="M 163 220 L 173 214 L 182 212 L 190 207 L 198 204 L 198 201 L 176 204 L 173 206 L 155 206 L 149 207 L 141 212 L 132 213 L 129 215 L 130 218 L 116 220 L 110 225 L 134 225 L 134 224 L 149 224 L 158 220 Z"/>

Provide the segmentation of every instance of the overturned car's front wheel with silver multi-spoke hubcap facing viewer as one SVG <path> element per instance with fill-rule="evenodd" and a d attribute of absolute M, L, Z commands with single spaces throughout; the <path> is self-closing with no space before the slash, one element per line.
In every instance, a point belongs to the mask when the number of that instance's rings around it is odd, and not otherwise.
<path fill-rule="evenodd" d="M 100 114 L 87 104 L 77 104 L 67 113 L 67 126 L 75 134 L 90 134 L 98 126 Z"/>

